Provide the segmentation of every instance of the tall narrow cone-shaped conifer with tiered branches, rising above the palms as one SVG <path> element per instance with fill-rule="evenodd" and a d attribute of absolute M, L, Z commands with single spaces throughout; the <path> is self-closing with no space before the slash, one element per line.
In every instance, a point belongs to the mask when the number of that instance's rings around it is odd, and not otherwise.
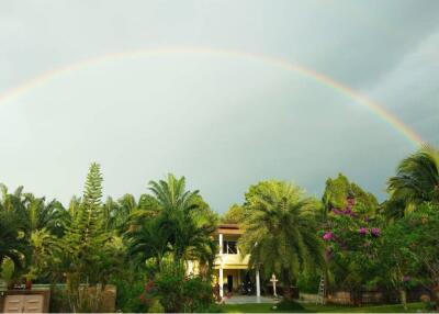
<path fill-rule="evenodd" d="M 91 164 L 82 200 L 79 206 L 75 203 L 75 215 L 61 239 L 61 265 L 67 276 L 67 290 L 74 312 L 93 310 L 91 304 L 99 303 L 99 300 L 90 302 L 87 291 L 82 291 L 80 284 L 104 283 L 100 276 L 103 273 L 101 268 L 108 266 L 111 259 L 105 247 L 110 235 L 103 224 L 102 181 L 100 166 Z M 87 309 L 85 304 L 88 304 Z"/>

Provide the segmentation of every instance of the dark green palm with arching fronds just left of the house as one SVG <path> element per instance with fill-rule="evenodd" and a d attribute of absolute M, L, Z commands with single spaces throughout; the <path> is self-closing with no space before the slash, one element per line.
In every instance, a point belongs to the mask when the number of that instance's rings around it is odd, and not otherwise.
<path fill-rule="evenodd" d="M 144 198 L 144 202 L 148 200 L 154 206 L 154 214 L 134 213 L 125 233 L 128 256 L 140 265 L 154 259 L 159 270 L 166 256 L 171 256 L 176 263 L 198 260 L 211 268 L 216 251 L 211 237 L 216 215 L 198 191 L 185 190 L 184 178 L 169 175 L 166 181 L 151 181 L 149 187 L 155 201 Z"/>

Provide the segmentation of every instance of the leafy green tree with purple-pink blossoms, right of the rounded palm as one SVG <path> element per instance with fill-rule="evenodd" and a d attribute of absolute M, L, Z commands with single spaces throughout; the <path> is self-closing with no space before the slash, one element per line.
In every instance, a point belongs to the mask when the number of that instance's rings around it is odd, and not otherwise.
<path fill-rule="evenodd" d="M 319 235 L 325 240 L 327 279 L 331 288 L 358 291 L 374 280 L 376 250 L 383 225 L 376 199 L 344 175 L 326 181 L 326 218 Z"/>

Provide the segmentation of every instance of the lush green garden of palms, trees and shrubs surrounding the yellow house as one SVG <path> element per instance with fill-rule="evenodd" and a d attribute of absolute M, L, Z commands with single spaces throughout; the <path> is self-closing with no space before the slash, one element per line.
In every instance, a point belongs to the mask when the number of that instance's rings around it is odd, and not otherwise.
<path fill-rule="evenodd" d="M 382 202 L 342 173 L 326 180 L 320 198 L 281 180 L 257 182 L 224 215 L 189 190 L 184 177 L 149 181 L 138 198 L 104 200 L 102 188 L 95 162 L 82 195 L 69 204 L 1 186 L 0 278 L 8 289 L 45 284 L 50 312 L 438 310 L 434 147 L 397 165 Z M 279 304 L 222 304 L 213 282 L 219 223 L 244 229 L 239 250 L 260 271 L 262 287 L 273 274 L 279 279 Z M 195 272 L 188 272 L 190 263 Z M 113 307 L 109 287 L 116 291 Z M 301 302 L 297 290 L 322 296 L 322 304 Z M 348 295 L 345 305 L 339 292 Z"/>

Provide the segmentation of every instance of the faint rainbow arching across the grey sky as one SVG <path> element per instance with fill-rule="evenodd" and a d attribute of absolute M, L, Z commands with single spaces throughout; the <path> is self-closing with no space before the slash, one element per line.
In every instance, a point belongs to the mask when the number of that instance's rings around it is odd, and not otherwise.
<path fill-rule="evenodd" d="M 319 74 L 313 69 L 308 69 L 304 66 L 294 64 L 286 59 L 272 57 L 263 54 L 247 53 L 243 51 L 235 49 L 216 49 L 209 47 L 164 47 L 164 48 L 153 48 L 153 49 L 134 49 L 134 51 L 123 51 L 117 53 L 109 53 L 100 55 L 97 57 L 86 58 L 53 70 L 46 71 L 33 79 L 30 79 L 22 85 L 0 94 L 0 103 L 7 102 L 11 99 L 18 98 L 32 89 L 37 88 L 59 76 L 78 70 L 80 68 L 90 67 L 100 63 L 112 61 L 122 58 L 136 58 L 144 56 L 154 55 L 169 55 L 169 54 L 207 54 L 216 56 L 226 56 L 233 58 L 246 58 L 259 60 L 272 66 L 281 67 L 304 77 L 311 78 L 318 83 L 330 87 L 339 93 L 348 96 L 350 99 L 354 100 L 356 103 L 363 105 L 371 113 L 380 117 L 382 121 L 391 125 L 394 130 L 399 132 L 404 137 L 406 137 L 415 146 L 419 146 L 424 143 L 423 138 L 416 134 L 409 126 L 405 125 L 398 117 L 396 117 L 392 112 L 381 106 L 379 103 L 372 101 L 360 92 L 349 88 L 348 86 L 328 77 Z"/>

